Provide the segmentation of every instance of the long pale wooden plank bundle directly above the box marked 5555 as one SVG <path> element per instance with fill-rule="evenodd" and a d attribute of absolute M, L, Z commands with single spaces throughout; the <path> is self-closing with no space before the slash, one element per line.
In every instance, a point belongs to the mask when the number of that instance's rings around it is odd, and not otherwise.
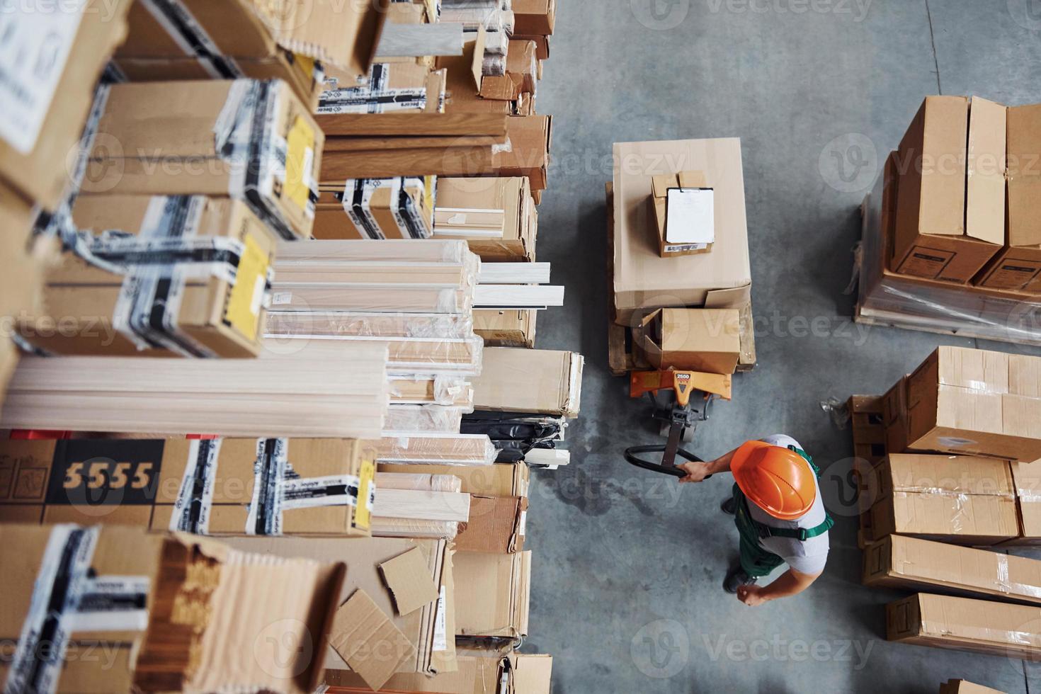
<path fill-rule="evenodd" d="M 260 359 L 28 357 L 0 427 L 248 437 L 375 438 L 384 344 L 301 343 Z"/>

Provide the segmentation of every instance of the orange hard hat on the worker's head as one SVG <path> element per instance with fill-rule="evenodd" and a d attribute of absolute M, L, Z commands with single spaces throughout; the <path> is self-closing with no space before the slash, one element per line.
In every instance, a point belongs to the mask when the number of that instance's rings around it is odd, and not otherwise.
<path fill-rule="evenodd" d="M 790 448 L 748 441 L 734 454 L 730 469 L 745 497 L 781 520 L 803 517 L 817 497 L 813 469 Z"/>

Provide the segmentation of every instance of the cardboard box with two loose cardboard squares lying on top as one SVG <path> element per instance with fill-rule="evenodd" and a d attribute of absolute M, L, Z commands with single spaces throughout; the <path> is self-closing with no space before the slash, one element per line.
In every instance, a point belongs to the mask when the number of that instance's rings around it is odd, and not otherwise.
<path fill-rule="evenodd" d="M 339 596 L 330 599 L 337 618 L 329 640 L 325 645 L 315 642 L 315 660 L 325 667 L 327 684 L 350 669 L 363 675 L 374 690 L 380 689 L 395 672 L 435 674 L 458 669 L 455 640 L 451 636 L 456 633 L 459 609 L 455 600 L 454 559 L 443 540 L 237 537 L 226 542 L 237 549 L 269 557 L 305 557 L 318 561 L 335 558 L 347 564 Z M 381 569 L 413 550 L 422 554 L 425 571 L 409 574 Z M 438 591 L 438 599 L 408 614 L 399 614 L 388 586 L 407 590 L 431 582 Z M 367 615 L 352 614 L 357 612 L 357 603 L 351 600 L 359 594 L 370 599 Z M 364 619 L 345 621 L 345 617 L 352 616 Z M 354 642 L 365 646 L 355 652 L 345 647 L 344 637 L 352 627 Z M 322 650 L 324 656 L 319 654 Z M 354 668 L 348 665 L 340 650 L 347 651 Z"/>

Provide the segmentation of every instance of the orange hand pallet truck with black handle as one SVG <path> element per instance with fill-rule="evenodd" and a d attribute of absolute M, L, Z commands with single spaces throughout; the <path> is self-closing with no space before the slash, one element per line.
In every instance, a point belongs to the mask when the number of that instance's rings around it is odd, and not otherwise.
<path fill-rule="evenodd" d="M 703 461 L 689 451 L 681 448 L 680 443 L 693 440 L 699 422 L 709 418 L 712 401 L 716 397 L 731 399 L 730 375 L 674 370 L 633 371 L 629 378 L 630 397 L 648 395 L 654 405 L 651 416 L 663 422 L 662 431 L 664 433 L 667 430 L 667 440 L 665 445 L 636 445 L 626 448 L 626 461 L 652 472 L 686 477 L 686 472 L 676 466 L 677 456 L 692 463 Z M 663 406 L 659 402 L 660 390 L 676 391 L 676 400 L 670 406 Z M 641 457 L 649 453 L 662 454 L 661 462 L 656 463 Z"/>

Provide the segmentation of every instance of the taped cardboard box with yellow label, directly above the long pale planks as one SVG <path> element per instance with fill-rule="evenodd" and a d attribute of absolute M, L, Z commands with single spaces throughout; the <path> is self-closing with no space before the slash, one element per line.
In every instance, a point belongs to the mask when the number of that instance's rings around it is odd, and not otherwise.
<path fill-rule="evenodd" d="M 81 253 L 119 272 L 65 254 L 46 275 L 42 304 L 18 315 L 28 343 L 59 355 L 259 354 L 276 238 L 245 203 L 82 196 L 73 221 L 95 234 L 81 239 Z M 112 231 L 124 235 L 112 238 Z M 183 243 L 175 246 L 175 237 Z"/>

